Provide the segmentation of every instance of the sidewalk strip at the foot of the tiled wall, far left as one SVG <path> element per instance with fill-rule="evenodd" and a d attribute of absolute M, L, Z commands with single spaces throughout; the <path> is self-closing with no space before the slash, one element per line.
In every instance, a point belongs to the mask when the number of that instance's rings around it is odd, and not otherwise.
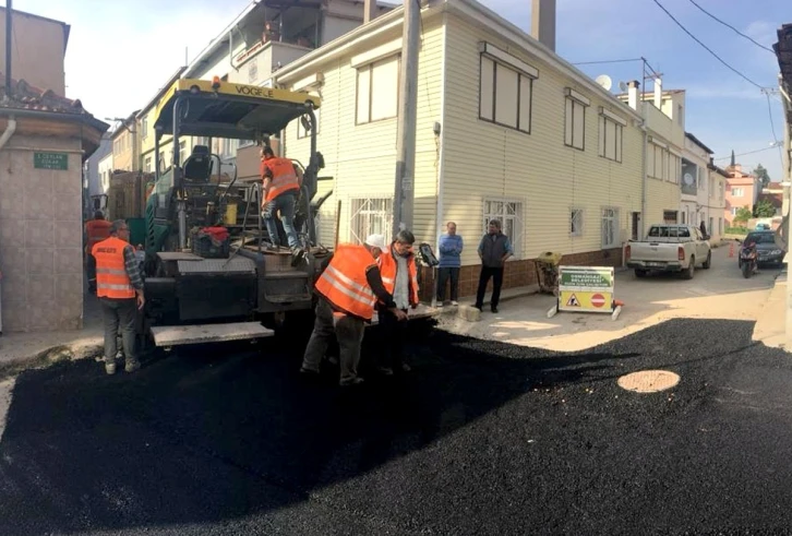
<path fill-rule="evenodd" d="M 0 336 L 0 379 L 23 369 L 64 359 L 82 359 L 101 352 L 101 312 L 95 296 L 85 295 L 83 329 Z"/>

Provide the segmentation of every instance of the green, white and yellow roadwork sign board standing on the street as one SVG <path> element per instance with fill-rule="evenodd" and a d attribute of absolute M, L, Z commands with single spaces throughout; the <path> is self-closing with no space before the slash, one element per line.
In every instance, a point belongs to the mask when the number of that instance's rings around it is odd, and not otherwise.
<path fill-rule="evenodd" d="M 559 266 L 559 311 L 611 313 L 614 286 L 611 266 Z"/>

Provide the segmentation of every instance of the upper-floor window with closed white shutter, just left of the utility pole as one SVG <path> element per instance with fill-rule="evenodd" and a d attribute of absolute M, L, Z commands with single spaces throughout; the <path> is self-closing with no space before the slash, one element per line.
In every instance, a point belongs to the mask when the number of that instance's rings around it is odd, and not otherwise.
<path fill-rule="evenodd" d="M 358 68 L 356 124 L 396 117 L 398 86 L 399 55 Z"/>

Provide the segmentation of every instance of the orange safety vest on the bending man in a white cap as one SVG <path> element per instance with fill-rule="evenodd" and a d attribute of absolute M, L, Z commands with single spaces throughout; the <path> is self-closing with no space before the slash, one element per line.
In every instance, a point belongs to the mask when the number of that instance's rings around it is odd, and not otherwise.
<path fill-rule="evenodd" d="M 340 243 L 316 281 L 316 291 L 337 309 L 370 321 L 376 297 L 365 272 L 375 265 L 374 257 L 363 246 Z"/>

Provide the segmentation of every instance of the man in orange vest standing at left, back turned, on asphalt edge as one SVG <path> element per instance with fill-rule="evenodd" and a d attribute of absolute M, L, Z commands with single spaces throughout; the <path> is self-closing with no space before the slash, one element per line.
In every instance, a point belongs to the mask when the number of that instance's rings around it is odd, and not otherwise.
<path fill-rule="evenodd" d="M 135 249 L 129 243 L 127 222 L 117 219 L 112 223 L 110 238 L 94 245 L 89 262 L 95 264 L 96 296 L 105 324 L 105 370 L 108 374 L 116 373 L 116 338 L 120 327 L 127 356 L 124 370 L 134 372 L 141 367 L 135 354 L 135 322 L 145 298 Z"/>

